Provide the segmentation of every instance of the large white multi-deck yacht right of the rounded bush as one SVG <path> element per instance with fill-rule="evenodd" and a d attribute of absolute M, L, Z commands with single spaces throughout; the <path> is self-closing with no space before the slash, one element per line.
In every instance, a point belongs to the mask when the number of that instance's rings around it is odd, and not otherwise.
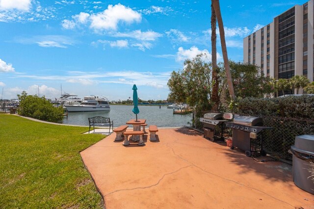
<path fill-rule="evenodd" d="M 80 104 L 64 105 L 68 112 L 91 112 L 91 111 L 109 111 L 110 105 L 108 99 L 103 96 L 84 96 Z"/>

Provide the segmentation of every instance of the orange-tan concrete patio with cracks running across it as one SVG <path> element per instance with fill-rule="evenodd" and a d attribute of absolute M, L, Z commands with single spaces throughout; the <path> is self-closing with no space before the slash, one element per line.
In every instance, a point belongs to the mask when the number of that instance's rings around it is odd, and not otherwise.
<path fill-rule="evenodd" d="M 81 157 L 106 209 L 294 209 L 314 205 L 314 195 L 292 181 L 291 166 L 259 163 L 187 128 L 160 129 L 124 147 L 111 134 Z M 148 134 L 149 138 L 149 134 Z"/>

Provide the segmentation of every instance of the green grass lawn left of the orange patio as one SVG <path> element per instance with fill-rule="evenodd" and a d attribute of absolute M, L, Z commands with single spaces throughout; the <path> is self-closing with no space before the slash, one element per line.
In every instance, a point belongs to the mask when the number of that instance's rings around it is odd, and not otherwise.
<path fill-rule="evenodd" d="M 79 151 L 104 136 L 87 129 L 0 114 L 0 208 L 103 208 Z"/>

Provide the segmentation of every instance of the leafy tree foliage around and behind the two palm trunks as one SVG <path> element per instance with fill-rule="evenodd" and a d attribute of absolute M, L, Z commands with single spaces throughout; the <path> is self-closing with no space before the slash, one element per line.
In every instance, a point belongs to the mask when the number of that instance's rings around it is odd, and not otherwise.
<path fill-rule="evenodd" d="M 272 79 L 261 74 L 259 67 L 250 64 L 235 63 L 229 61 L 233 77 L 233 86 L 237 98 L 256 97 L 262 98 L 266 93 L 274 91 Z M 168 81 L 170 93 L 169 101 L 186 102 L 196 110 L 210 110 L 212 103 L 209 98 L 212 95 L 211 63 L 202 59 L 202 54 L 192 60 L 184 62 L 184 69 L 173 71 Z M 227 78 L 224 64 L 219 63 L 217 68 L 219 83 L 218 95 L 221 98 L 220 110 L 231 102 L 227 87 Z M 224 109 L 224 108 L 223 108 Z"/>

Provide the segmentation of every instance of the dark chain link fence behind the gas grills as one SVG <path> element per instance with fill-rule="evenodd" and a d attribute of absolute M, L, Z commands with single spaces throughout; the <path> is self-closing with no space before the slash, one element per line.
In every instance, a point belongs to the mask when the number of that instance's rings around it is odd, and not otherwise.
<path fill-rule="evenodd" d="M 193 113 L 193 127 L 203 131 L 203 123 L 200 117 L 209 111 L 199 111 Z M 294 144 L 296 136 L 314 135 L 314 119 L 296 119 L 275 116 L 262 117 L 263 125 L 273 129 L 265 130 L 262 133 L 263 149 L 274 157 L 292 160 L 292 155 L 288 153 L 290 146 Z M 219 128 L 219 127 L 217 127 Z M 219 130 L 218 130 L 219 131 Z M 232 129 L 224 129 L 225 137 L 232 137 Z"/>

